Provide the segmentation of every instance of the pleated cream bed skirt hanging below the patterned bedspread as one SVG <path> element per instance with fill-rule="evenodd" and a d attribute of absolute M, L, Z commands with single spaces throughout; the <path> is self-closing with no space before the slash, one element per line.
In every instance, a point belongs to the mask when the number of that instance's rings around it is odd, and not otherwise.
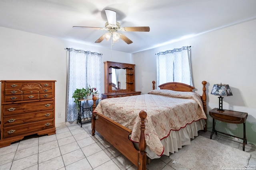
<path fill-rule="evenodd" d="M 194 121 L 191 124 L 186 125 L 186 127 L 180 129 L 179 131 L 171 131 L 170 135 L 161 140 L 164 146 L 164 155 L 170 156 L 170 152 L 178 152 L 182 146 L 190 145 L 190 139 L 194 139 L 198 136 L 198 131 L 204 129 L 205 120 L 200 119 L 199 121 Z M 138 148 L 138 143 L 134 143 L 135 147 Z M 147 156 L 150 159 L 160 158 L 146 146 Z"/>

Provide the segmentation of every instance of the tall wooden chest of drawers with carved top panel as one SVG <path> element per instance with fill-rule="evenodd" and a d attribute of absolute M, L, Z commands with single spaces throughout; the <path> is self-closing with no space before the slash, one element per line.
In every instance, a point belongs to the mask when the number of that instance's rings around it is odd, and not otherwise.
<path fill-rule="evenodd" d="M 55 80 L 1 80 L 0 147 L 55 134 Z"/>

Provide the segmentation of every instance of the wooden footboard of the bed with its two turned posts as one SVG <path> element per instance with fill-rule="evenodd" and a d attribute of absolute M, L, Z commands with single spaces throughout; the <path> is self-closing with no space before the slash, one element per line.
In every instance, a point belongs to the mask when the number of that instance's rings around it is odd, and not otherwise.
<path fill-rule="evenodd" d="M 92 99 L 96 102 L 96 97 Z M 93 110 L 95 109 L 93 105 Z M 145 124 L 144 119 L 147 114 L 145 111 L 139 113 L 141 119 L 141 134 L 139 142 L 139 150 L 134 148 L 132 141 L 130 141 L 129 135 L 132 131 L 119 123 L 109 119 L 108 117 L 93 113 L 92 114 L 92 135 L 95 135 L 97 130 L 106 141 L 113 145 L 118 151 L 120 151 L 126 158 L 128 158 L 134 165 L 138 167 L 138 170 L 146 170 L 146 140 L 144 136 Z"/>

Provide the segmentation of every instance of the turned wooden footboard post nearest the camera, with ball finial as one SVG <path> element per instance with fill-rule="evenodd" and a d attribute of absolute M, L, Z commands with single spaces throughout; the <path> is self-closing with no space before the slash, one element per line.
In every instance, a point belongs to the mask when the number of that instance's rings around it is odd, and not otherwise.
<path fill-rule="evenodd" d="M 145 119 L 147 117 L 147 113 L 145 111 L 140 111 L 139 113 L 141 123 L 140 123 L 140 141 L 139 141 L 139 152 L 138 152 L 138 170 L 146 170 L 146 139 L 145 139 Z"/>

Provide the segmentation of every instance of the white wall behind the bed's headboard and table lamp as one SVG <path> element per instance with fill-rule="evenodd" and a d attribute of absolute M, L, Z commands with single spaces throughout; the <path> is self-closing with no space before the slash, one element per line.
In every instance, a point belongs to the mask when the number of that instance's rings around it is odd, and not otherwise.
<path fill-rule="evenodd" d="M 223 109 L 248 113 L 248 141 L 256 144 L 256 20 L 204 33 L 163 47 L 133 54 L 136 64 L 136 90 L 147 93 L 156 80 L 156 55 L 160 51 L 191 47 L 195 92 L 202 94 L 206 80 L 208 110 L 218 107 L 218 96 L 210 94 L 213 84 L 229 84 L 233 96 L 224 97 Z M 209 116 L 208 116 L 209 117 Z M 225 130 L 242 134 L 242 125 L 228 124 Z M 212 127 L 211 117 L 208 127 Z M 239 127 L 239 129 L 237 128 Z M 222 128 L 222 129 L 223 129 Z M 211 129 L 208 129 L 211 130 Z M 221 131 L 221 130 L 220 130 Z"/>

